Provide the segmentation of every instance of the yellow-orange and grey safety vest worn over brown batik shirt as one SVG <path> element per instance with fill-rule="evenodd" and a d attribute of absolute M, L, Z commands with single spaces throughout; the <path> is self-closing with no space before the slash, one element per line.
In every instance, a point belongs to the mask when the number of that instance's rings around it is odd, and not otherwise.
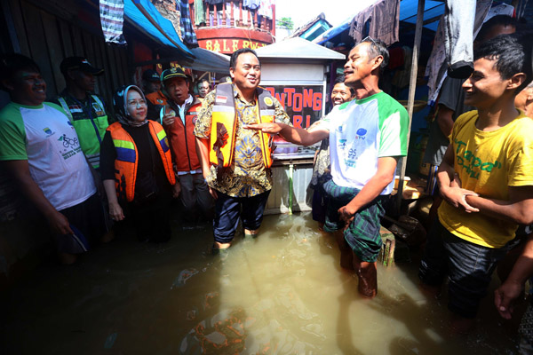
<path fill-rule="evenodd" d="M 274 99 L 270 92 L 257 88 L 258 123 L 274 122 Z M 259 106 L 259 108 L 258 108 Z M 237 129 L 234 87 L 232 83 L 219 83 L 215 93 L 215 103 L 211 122 L 211 143 L 209 161 L 213 165 L 227 168 L 233 162 Z M 259 131 L 263 162 L 272 166 L 272 141 L 268 133 Z"/>

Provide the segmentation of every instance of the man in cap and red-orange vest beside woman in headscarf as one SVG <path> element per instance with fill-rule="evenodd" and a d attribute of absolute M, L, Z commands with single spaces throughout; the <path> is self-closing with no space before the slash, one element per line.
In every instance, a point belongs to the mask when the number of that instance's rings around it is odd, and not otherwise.
<path fill-rule="evenodd" d="M 171 144 L 176 170 L 173 195 L 180 197 L 187 219 L 198 216 L 198 213 L 195 213 L 197 208 L 202 210 L 203 217 L 211 218 L 213 200 L 203 179 L 193 134 L 197 111 L 202 103 L 189 93 L 190 80 L 183 67 L 164 70 L 161 83 L 165 102 L 161 105 L 157 101 L 156 107 Z M 150 95 L 147 98 L 150 99 Z"/>

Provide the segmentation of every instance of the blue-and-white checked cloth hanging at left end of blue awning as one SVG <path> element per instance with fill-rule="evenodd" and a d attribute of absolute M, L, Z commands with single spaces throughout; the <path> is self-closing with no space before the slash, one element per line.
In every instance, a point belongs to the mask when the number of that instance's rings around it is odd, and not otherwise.
<path fill-rule="evenodd" d="M 126 44 L 123 36 L 124 1 L 100 0 L 100 24 L 107 43 Z"/>

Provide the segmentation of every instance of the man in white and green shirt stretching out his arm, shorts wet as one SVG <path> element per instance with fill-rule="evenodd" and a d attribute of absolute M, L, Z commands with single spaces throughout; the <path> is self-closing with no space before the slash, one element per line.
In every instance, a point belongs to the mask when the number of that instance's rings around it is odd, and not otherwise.
<path fill-rule="evenodd" d="M 407 111 L 378 87 L 387 62 L 385 43 L 367 37 L 350 51 L 345 65 L 345 84 L 357 99 L 335 107 L 308 131 L 282 123 L 248 126 L 303 146 L 330 138 L 332 180 L 323 186 L 330 195 L 324 230 L 344 229 L 338 233 L 340 264 L 354 269 L 359 292 L 370 298 L 378 292 L 380 218 L 393 190 L 397 159 L 407 154 Z"/>

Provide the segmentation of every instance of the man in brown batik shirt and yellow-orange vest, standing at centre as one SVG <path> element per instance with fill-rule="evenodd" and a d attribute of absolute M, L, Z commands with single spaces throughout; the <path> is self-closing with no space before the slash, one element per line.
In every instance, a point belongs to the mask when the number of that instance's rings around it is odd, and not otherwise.
<path fill-rule="evenodd" d="M 229 73 L 233 84 L 220 83 L 207 94 L 195 127 L 203 177 L 216 199 L 213 253 L 230 247 L 239 217 L 244 234 L 258 233 L 272 188 L 270 135 L 243 125 L 290 123 L 278 100 L 258 87 L 261 65 L 255 51 L 235 51 Z"/>

